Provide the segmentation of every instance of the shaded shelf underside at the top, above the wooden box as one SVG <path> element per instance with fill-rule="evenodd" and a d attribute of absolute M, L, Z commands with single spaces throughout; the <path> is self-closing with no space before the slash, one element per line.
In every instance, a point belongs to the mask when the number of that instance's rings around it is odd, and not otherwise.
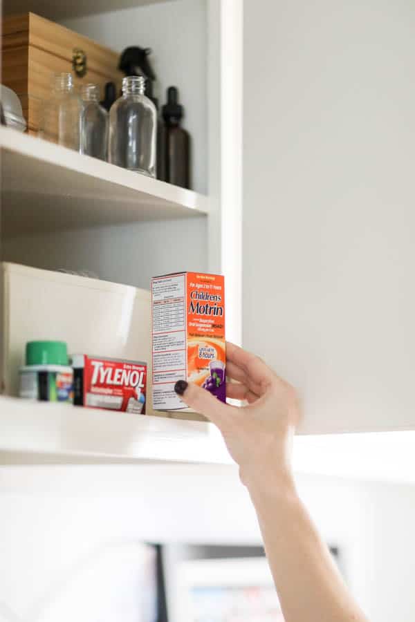
<path fill-rule="evenodd" d="M 147 4 L 165 3 L 172 0 L 3 0 L 5 15 L 18 15 L 31 11 L 48 19 L 62 19 L 63 17 L 77 17 L 91 15 L 104 11 L 113 11 L 122 8 L 145 6 Z"/>

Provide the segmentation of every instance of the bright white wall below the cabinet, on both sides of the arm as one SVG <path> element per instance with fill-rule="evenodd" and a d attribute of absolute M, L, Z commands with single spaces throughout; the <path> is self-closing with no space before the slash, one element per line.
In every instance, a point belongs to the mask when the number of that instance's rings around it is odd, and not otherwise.
<path fill-rule="evenodd" d="M 371 622 L 412 622 L 415 487 L 302 476 L 299 489 Z M 82 573 L 141 540 L 257 544 L 260 536 L 232 467 L 2 467 L 0 620 L 48 619 Z M 78 622 L 83 611 L 81 599 Z"/>

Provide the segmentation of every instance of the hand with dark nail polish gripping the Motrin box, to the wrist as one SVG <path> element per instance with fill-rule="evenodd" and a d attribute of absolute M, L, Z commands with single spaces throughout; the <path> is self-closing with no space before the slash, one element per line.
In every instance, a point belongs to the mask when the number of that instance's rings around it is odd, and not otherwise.
<path fill-rule="evenodd" d="M 248 402 L 243 408 L 219 402 L 207 390 L 178 381 L 183 401 L 216 424 L 230 455 L 239 464 L 241 480 L 250 486 L 262 479 L 291 480 L 291 446 L 299 420 L 294 388 L 259 357 L 227 343 L 227 396 Z"/>

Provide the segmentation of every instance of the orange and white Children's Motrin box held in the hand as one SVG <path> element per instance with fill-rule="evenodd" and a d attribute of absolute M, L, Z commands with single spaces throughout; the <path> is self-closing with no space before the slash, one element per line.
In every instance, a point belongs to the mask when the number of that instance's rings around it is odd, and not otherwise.
<path fill-rule="evenodd" d="M 151 281 L 153 408 L 187 408 L 178 380 L 226 399 L 225 282 L 217 274 L 180 272 Z"/>

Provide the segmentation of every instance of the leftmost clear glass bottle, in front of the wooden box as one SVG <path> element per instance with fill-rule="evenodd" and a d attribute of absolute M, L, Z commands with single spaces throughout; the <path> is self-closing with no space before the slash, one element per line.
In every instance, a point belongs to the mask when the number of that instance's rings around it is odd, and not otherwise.
<path fill-rule="evenodd" d="M 42 105 L 39 137 L 81 151 L 83 107 L 72 74 L 55 73 L 50 99 Z"/>

